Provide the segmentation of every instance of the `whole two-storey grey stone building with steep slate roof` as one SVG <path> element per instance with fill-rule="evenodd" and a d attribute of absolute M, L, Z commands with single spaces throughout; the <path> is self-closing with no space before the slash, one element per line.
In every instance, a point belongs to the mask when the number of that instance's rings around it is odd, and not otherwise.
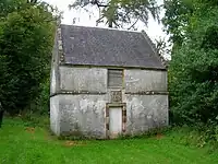
<path fill-rule="evenodd" d="M 60 25 L 51 68 L 50 126 L 116 138 L 168 125 L 167 69 L 145 32 Z"/>

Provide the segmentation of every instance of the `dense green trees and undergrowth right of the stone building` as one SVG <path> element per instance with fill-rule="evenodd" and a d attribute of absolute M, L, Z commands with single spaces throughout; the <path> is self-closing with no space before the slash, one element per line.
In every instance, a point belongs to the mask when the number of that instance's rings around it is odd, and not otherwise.
<path fill-rule="evenodd" d="M 171 122 L 218 136 L 218 1 L 166 0 L 164 23 L 173 49 L 169 66 Z"/>

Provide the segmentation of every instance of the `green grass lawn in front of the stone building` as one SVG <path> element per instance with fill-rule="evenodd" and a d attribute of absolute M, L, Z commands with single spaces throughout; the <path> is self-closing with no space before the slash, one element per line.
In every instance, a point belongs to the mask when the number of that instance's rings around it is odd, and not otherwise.
<path fill-rule="evenodd" d="M 0 129 L 0 164 L 217 164 L 218 154 L 161 138 L 63 141 L 45 128 L 5 119 Z"/>

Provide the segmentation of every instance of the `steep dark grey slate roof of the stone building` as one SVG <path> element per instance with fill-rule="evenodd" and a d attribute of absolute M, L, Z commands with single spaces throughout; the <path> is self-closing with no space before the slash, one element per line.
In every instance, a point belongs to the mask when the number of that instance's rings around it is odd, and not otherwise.
<path fill-rule="evenodd" d="M 64 63 L 165 69 L 146 34 L 60 25 Z"/>

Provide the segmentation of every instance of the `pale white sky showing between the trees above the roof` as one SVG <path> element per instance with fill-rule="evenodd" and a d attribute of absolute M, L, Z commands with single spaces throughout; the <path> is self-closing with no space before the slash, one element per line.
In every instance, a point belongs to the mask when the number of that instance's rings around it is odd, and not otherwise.
<path fill-rule="evenodd" d="M 73 19 L 76 17 L 75 25 L 84 26 L 96 26 L 96 20 L 99 19 L 98 9 L 93 7 L 90 8 L 92 14 L 84 11 L 73 11 L 69 9 L 69 4 L 72 4 L 74 0 L 44 0 L 52 5 L 57 5 L 60 11 L 63 11 L 62 24 L 73 24 Z M 162 0 L 157 0 L 158 3 L 162 3 Z M 161 12 L 164 15 L 164 12 Z M 160 15 L 160 16 L 161 16 Z M 104 26 L 102 24 L 99 26 Z M 148 26 L 140 23 L 137 31 L 144 30 L 147 35 L 153 39 L 158 39 L 159 37 L 166 37 L 166 34 L 162 32 L 162 25 L 158 24 L 152 17 L 148 20 Z"/>

